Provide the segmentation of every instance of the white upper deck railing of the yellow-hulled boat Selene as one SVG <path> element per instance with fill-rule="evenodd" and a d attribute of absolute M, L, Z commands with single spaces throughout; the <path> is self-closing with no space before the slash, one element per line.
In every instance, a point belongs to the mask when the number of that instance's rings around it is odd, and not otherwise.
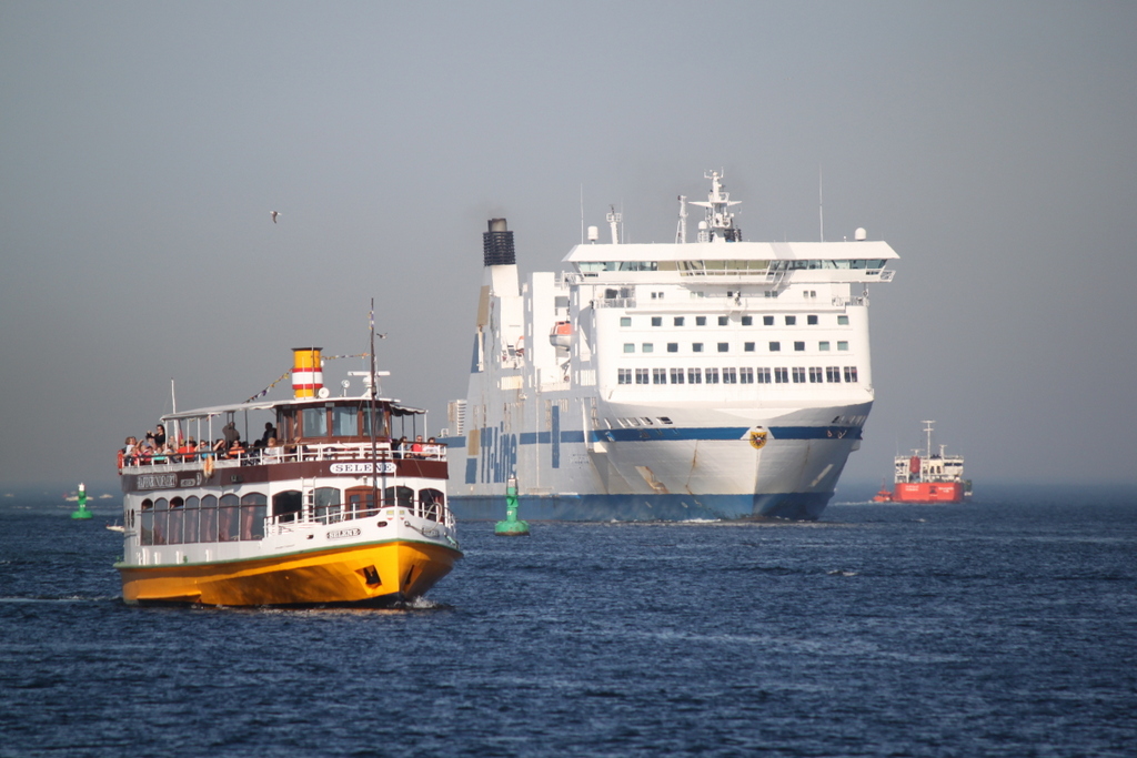
<path fill-rule="evenodd" d="M 217 468 L 239 466 L 262 466 L 273 464 L 294 464 L 308 461 L 359 461 L 389 463 L 396 460 L 447 460 L 447 448 L 439 442 L 430 450 L 415 452 L 412 450 L 391 450 L 388 442 L 379 442 L 374 449 L 370 442 L 316 442 L 279 448 L 280 452 L 251 450 L 238 453 L 235 457 L 221 456 L 215 452 L 174 453 L 153 456 L 136 460 L 124 460 L 119 470 L 194 470 L 201 468 L 207 459 L 214 461 Z"/>

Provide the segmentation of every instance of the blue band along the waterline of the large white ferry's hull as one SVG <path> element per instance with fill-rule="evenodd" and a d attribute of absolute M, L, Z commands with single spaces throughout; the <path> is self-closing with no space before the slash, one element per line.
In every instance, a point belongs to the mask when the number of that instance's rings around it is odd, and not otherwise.
<path fill-rule="evenodd" d="M 832 492 L 521 495 L 517 515 L 554 522 L 683 522 L 753 516 L 812 522 L 821 516 L 832 497 Z M 505 495 L 451 497 L 450 509 L 459 520 L 501 520 Z"/>

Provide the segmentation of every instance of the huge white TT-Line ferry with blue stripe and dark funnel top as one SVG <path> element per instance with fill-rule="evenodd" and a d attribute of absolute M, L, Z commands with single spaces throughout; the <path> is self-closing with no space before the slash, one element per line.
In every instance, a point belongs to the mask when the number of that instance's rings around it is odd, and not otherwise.
<path fill-rule="evenodd" d="M 588 241 L 520 282 L 484 234 L 465 400 L 450 403 L 458 518 L 815 519 L 872 408 L 866 286 L 898 258 L 853 241 L 746 242 L 722 176 L 680 197 L 674 243 Z M 706 208 L 687 241 L 687 205 Z"/>

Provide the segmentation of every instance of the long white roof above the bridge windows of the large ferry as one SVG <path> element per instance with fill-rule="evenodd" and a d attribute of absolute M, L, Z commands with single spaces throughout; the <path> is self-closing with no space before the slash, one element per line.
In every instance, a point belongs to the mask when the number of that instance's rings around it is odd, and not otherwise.
<path fill-rule="evenodd" d="M 899 258 L 882 240 L 847 242 L 662 242 L 578 244 L 563 263 L 639 260 L 890 260 Z"/>

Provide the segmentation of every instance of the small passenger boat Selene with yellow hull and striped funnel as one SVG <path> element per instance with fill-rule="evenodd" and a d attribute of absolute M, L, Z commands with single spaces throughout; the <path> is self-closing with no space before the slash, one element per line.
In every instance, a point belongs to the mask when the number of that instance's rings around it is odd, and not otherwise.
<path fill-rule="evenodd" d="M 462 557 L 446 448 L 393 442 L 424 411 L 374 397 L 374 370 L 364 394 L 331 397 L 319 348 L 293 366 L 293 398 L 169 414 L 175 450 L 121 453 L 125 601 L 388 605 Z M 264 445 L 241 441 L 264 428 L 250 414 L 268 418 Z"/>

